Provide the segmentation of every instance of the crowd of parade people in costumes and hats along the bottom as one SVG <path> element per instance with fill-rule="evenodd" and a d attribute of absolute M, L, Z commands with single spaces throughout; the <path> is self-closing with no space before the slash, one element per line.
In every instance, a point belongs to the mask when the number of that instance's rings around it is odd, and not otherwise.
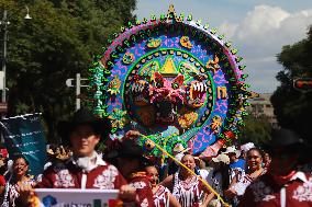
<path fill-rule="evenodd" d="M 248 142 L 222 148 L 218 156 L 203 160 L 177 145 L 174 156 L 187 166 L 182 168 L 170 159 L 161 163 L 145 157 L 136 143 L 141 135 L 134 130 L 104 152 L 97 151 L 110 127 L 109 120 L 83 108 L 77 111 L 59 127 L 70 148 L 49 146 L 48 162 L 37 177 L 29 174 L 25 158 L 8 161 L 1 150 L 2 206 L 30 206 L 37 187 L 119 189 L 116 206 L 222 206 L 216 194 L 239 207 L 312 206 L 312 148 L 292 130 L 272 133 L 265 151 Z"/>

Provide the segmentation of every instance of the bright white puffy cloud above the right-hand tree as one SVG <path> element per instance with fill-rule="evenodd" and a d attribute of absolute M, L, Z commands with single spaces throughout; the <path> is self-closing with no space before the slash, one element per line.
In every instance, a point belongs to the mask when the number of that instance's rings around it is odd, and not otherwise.
<path fill-rule="evenodd" d="M 279 7 L 263 4 L 256 5 L 239 23 L 224 22 L 220 31 L 229 33 L 227 36 L 239 45 L 272 54 L 279 53 L 282 45 L 304 38 L 309 24 L 312 24 L 312 9 L 290 13 Z"/>

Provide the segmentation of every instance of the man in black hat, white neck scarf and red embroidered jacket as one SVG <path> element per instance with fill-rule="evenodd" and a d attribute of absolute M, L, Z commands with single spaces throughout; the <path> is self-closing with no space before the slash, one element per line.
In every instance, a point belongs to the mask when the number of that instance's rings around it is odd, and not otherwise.
<path fill-rule="evenodd" d="M 70 140 L 73 158 L 47 168 L 37 187 L 113 189 L 126 184 L 118 169 L 94 150 L 110 129 L 108 119 L 98 118 L 85 108 L 77 111 L 60 127 L 63 137 Z"/>

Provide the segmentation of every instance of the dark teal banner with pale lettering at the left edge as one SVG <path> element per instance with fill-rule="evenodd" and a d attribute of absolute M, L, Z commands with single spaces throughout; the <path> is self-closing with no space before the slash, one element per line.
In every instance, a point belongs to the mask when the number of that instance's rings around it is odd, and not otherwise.
<path fill-rule="evenodd" d="M 40 114 L 2 118 L 0 124 L 9 158 L 24 157 L 30 162 L 30 174 L 41 174 L 47 156 Z"/>

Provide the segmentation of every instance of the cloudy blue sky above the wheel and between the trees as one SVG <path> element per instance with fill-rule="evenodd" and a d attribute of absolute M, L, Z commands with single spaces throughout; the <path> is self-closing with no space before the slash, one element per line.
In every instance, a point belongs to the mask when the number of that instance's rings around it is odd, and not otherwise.
<path fill-rule="evenodd" d="M 260 93 L 274 92 L 279 84 L 275 77 L 282 66 L 276 54 L 305 38 L 312 25 L 312 0 L 137 0 L 134 13 L 138 20 L 159 16 L 169 4 L 178 14 L 192 14 L 225 34 L 244 58 L 252 90 Z"/>

